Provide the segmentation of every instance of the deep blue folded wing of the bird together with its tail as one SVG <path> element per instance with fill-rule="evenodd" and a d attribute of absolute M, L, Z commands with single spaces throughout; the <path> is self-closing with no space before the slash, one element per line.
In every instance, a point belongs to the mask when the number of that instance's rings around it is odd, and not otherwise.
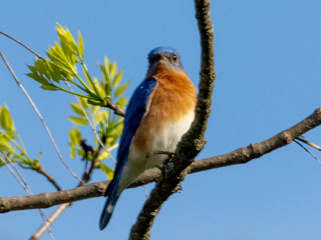
<path fill-rule="evenodd" d="M 116 202 L 118 200 L 118 197 L 120 196 L 117 194 L 117 188 L 121 172 L 128 160 L 129 146 L 146 111 L 146 101 L 153 92 L 155 85 L 155 78 L 146 78 L 136 88 L 132 97 L 129 100 L 124 119 L 124 128 L 122 136 L 120 138 L 117 152 L 117 164 L 114 172 L 114 179 L 111 183 L 109 183 L 105 193 L 107 199 L 100 216 L 100 230 L 104 229 L 107 226 L 113 213 Z"/>

